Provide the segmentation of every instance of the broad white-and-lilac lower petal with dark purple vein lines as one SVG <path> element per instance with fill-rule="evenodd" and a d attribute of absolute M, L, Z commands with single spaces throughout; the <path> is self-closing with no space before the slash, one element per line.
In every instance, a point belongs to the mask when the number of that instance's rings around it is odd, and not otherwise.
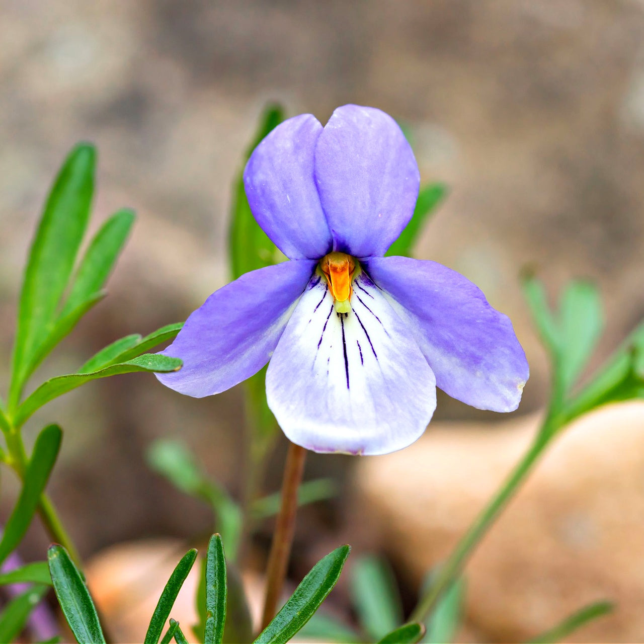
<path fill-rule="evenodd" d="M 309 450 L 386 454 L 421 436 L 436 406 L 435 378 L 408 327 L 362 274 L 352 311 L 337 314 L 314 276 L 270 359 L 269 407 Z"/>

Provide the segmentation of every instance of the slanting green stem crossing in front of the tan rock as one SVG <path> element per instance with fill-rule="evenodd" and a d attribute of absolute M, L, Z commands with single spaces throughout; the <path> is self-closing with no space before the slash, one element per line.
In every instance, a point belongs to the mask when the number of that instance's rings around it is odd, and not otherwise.
<path fill-rule="evenodd" d="M 494 497 L 491 498 L 488 505 L 478 515 L 475 522 L 469 527 L 465 535 L 462 536 L 455 549 L 450 554 L 448 560 L 440 566 L 438 576 L 425 594 L 419 600 L 417 606 L 412 612 L 410 621 L 426 620 L 436 604 L 446 592 L 451 583 L 453 583 L 462 573 L 465 565 L 468 563 L 474 549 L 480 543 L 482 538 L 488 533 L 488 530 L 498 518 L 498 515 L 506 507 L 509 500 L 516 493 L 517 489 L 524 482 L 527 475 L 535 465 L 538 457 L 543 453 L 550 440 L 556 434 L 556 428 L 551 422 L 551 416 L 545 419 L 542 428 L 535 440 L 524 454 L 523 458 L 516 464 L 504 484 L 498 489 Z"/>

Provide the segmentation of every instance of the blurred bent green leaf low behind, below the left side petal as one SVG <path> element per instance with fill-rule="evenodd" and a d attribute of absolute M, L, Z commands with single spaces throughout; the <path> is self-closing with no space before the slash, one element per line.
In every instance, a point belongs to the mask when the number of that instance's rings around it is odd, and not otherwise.
<path fill-rule="evenodd" d="M 228 558 L 234 561 L 242 531 L 242 510 L 225 489 L 205 475 L 193 454 L 179 440 L 156 440 L 146 456 L 149 466 L 176 488 L 204 500 L 213 508 L 216 527 L 229 553 Z"/>

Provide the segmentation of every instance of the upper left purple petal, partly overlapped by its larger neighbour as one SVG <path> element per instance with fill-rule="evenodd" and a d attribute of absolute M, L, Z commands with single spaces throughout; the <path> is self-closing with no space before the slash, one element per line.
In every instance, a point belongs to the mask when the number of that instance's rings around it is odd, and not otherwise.
<path fill-rule="evenodd" d="M 292 260 L 319 259 L 332 246 L 313 178 L 321 133 L 310 114 L 289 118 L 255 148 L 243 173 L 252 214 Z"/>

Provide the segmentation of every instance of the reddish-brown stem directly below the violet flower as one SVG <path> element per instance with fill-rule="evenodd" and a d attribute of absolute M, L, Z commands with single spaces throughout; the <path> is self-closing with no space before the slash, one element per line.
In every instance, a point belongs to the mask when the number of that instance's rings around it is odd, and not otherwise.
<path fill-rule="evenodd" d="M 298 487 L 304 472 L 307 450 L 294 443 L 289 445 L 282 480 L 281 506 L 270 547 L 269 564 L 266 571 L 266 598 L 261 618 L 265 629 L 277 611 L 279 596 L 289 563 L 290 548 L 295 533 L 295 516 L 298 509 Z"/>

